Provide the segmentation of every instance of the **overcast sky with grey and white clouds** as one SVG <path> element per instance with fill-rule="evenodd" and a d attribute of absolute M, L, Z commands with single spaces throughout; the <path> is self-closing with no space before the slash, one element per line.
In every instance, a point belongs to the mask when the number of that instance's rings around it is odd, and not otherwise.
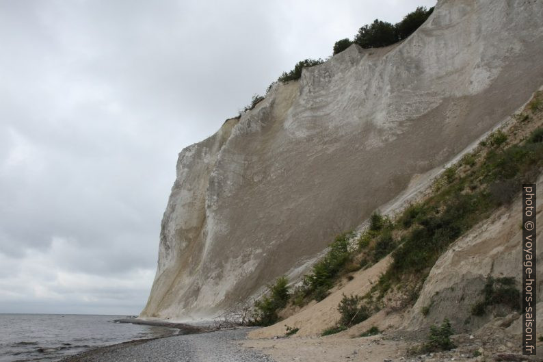
<path fill-rule="evenodd" d="M 139 313 L 178 152 L 434 3 L 0 0 L 0 313 Z"/>

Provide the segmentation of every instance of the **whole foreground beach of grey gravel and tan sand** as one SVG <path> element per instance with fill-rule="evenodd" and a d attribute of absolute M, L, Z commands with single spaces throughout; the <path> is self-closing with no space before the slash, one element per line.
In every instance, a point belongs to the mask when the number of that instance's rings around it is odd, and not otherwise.
<path fill-rule="evenodd" d="M 59 362 L 479 362 L 484 359 L 508 360 L 505 358 L 520 361 L 522 358 L 512 343 L 514 336 L 494 329 L 478 331 L 473 335 L 454 335 L 452 339 L 457 344 L 456 348 L 432 353 L 412 350 L 425 341 L 425 333 L 384 332 L 361 337 L 344 332 L 327 337 L 308 335 L 250 338 L 248 333 L 256 329 L 258 328 L 239 327 L 211 333 L 137 339 L 92 348 L 65 357 Z M 478 357 L 477 353 L 484 357 Z M 526 360 L 542 361 L 540 357 L 529 357 Z"/>

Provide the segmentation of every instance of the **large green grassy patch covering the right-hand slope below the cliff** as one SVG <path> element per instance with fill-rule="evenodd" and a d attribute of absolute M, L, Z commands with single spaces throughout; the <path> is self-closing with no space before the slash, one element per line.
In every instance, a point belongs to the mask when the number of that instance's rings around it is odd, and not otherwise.
<path fill-rule="evenodd" d="M 383 294 L 402 281 L 418 280 L 412 285 L 416 296 L 429 270 L 454 240 L 497 207 L 510 203 L 522 183 L 538 176 L 543 166 L 542 134 L 538 128 L 522 142 L 508 144 L 507 135 L 496 131 L 444 172 L 434 184 L 434 194 L 408 207 L 395 222 L 394 229 L 401 235 L 399 247 L 374 290 Z"/>

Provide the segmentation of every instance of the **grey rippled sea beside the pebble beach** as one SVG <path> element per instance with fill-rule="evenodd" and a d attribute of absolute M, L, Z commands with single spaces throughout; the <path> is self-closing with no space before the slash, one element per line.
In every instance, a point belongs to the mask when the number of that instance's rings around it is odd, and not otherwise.
<path fill-rule="evenodd" d="M 126 315 L 1 314 L 0 362 L 58 361 L 92 348 L 168 337 L 176 328 L 118 323 Z"/>

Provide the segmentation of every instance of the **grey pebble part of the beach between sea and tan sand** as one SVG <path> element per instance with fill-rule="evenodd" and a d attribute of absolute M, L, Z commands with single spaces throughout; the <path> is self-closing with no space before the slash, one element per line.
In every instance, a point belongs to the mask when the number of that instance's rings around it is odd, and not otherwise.
<path fill-rule="evenodd" d="M 265 354 L 239 346 L 237 341 L 245 339 L 252 329 L 131 341 L 96 348 L 61 362 L 274 362 Z"/>

